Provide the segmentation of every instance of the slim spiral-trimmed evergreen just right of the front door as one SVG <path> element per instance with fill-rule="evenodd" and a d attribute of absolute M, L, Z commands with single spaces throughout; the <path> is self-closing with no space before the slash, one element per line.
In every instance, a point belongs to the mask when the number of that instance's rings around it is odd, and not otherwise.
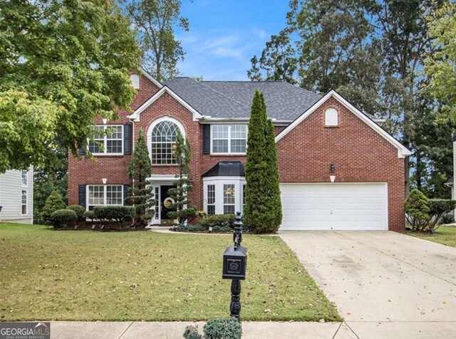
<path fill-rule="evenodd" d="M 175 211 L 168 212 L 170 219 L 177 219 L 179 224 L 185 224 L 189 219 L 195 218 L 197 214 L 196 207 L 190 207 L 189 192 L 193 190 L 192 181 L 190 180 L 190 143 L 187 137 L 184 137 L 180 130 L 176 135 L 175 159 L 179 165 L 179 174 L 172 183 L 175 188 L 169 189 L 168 194 L 174 200 L 170 208 Z"/>

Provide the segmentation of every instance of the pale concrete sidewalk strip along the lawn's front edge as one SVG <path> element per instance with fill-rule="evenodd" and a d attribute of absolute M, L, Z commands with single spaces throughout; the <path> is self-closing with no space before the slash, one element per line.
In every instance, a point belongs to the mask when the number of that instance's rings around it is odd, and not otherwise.
<path fill-rule="evenodd" d="M 183 338 L 187 325 L 203 322 L 51 322 L 51 339 L 150 339 Z M 345 323 L 242 322 L 243 339 L 353 339 L 357 338 Z"/>

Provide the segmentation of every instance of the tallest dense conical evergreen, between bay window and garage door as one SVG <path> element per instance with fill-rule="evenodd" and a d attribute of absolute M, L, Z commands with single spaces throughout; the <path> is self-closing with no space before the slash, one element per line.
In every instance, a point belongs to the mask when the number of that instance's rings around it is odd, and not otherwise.
<path fill-rule="evenodd" d="M 244 223 L 256 233 L 276 231 L 281 222 L 281 211 L 277 211 L 281 210 L 280 190 L 277 186 L 279 172 L 276 167 L 275 143 L 273 149 L 271 141 L 274 142 L 274 127 L 271 130 L 264 97 L 257 90 L 252 100 L 247 138 L 247 185 L 244 208 Z"/>

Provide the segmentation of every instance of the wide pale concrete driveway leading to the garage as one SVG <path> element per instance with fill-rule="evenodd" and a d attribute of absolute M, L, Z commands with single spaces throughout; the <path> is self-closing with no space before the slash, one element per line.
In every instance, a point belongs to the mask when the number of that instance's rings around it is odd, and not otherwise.
<path fill-rule="evenodd" d="M 454 247 L 392 231 L 279 235 L 356 337 L 456 338 Z"/>

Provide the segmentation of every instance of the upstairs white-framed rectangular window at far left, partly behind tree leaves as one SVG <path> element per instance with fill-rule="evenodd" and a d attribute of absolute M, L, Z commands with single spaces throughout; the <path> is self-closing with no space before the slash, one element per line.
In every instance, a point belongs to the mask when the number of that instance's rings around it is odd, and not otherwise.
<path fill-rule="evenodd" d="M 123 154 L 123 125 L 96 125 L 88 150 L 95 155 Z M 108 134 L 105 134 L 108 130 Z"/>

